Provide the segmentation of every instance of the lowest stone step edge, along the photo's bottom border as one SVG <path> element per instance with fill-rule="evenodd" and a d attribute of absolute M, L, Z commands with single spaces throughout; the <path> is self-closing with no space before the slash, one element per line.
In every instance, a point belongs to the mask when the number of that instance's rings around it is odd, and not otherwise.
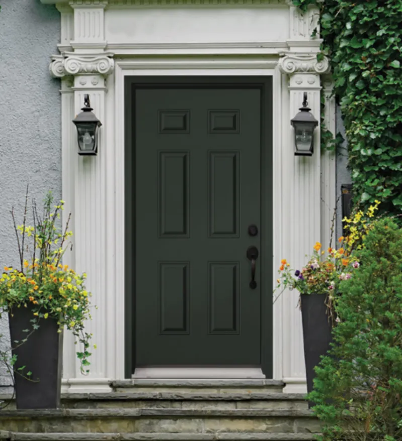
<path fill-rule="evenodd" d="M 312 433 L 45 433 L 0 432 L 10 441 L 313 441 Z"/>

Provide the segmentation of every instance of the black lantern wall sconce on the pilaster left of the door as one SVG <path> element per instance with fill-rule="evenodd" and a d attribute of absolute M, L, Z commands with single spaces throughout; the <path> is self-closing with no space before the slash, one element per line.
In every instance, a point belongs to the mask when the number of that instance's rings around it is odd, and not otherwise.
<path fill-rule="evenodd" d="M 72 122 L 78 133 L 78 155 L 96 155 L 98 153 L 98 132 L 102 123 L 92 113 L 90 95 L 84 95 L 84 107 Z"/>

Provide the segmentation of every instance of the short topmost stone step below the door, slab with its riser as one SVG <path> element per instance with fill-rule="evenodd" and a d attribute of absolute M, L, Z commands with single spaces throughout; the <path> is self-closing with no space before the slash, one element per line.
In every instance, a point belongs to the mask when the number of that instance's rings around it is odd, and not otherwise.
<path fill-rule="evenodd" d="M 263 378 L 250 379 L 151 379 L 135 378 L 116 380 L 111 383 L 115 392 L 172 392 L 178 389 L 181 392 L 282 392 L 284 383 L 279 380 Z"/>

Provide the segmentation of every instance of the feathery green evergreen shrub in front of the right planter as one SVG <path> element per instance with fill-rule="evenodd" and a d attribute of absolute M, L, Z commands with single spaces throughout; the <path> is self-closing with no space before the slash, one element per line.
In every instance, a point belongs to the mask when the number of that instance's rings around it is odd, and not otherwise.
<path fill-rule="evenodd" d="M 309 399 L 323 441 L 402 439 L 402 229 L 373 223 L 361 266 L 341 283 L 331 356 L 316 367 Z"/>

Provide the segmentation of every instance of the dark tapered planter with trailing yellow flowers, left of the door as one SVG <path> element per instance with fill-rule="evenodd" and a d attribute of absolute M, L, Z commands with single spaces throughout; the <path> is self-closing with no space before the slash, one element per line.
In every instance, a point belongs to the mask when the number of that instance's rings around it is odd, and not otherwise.
<path fill-rule="evenodd" d="M 62 333 L 57 333 L 57 320 L 41 318 L 39 328 L 28 337 L 24 329 L 33 329 L 32 308 L 13 308 L 9 313 L 12 353 L 17 356 L 15 370 L 25 366 L 31 379 L 14 374 L 17 409 L 56 409 L 60 407 Z"/>

